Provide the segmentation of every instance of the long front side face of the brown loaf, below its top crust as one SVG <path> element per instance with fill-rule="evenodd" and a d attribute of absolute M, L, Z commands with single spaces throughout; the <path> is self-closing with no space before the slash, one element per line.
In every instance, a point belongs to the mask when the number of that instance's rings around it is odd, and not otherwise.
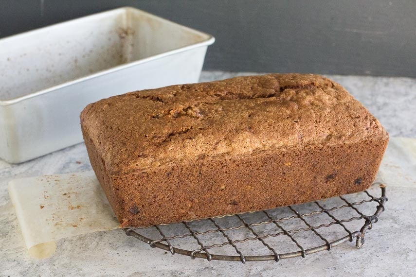
<path fill-rule="evenodd" d="M 125 226 L 166 224 L 362 191 L 373 182 L 386 145 L 387 139 L 368 140 L 130 173 L 116 182 L 127 192 L 121 195 L 127 201 L 116 203 L 119 219 Z"/>

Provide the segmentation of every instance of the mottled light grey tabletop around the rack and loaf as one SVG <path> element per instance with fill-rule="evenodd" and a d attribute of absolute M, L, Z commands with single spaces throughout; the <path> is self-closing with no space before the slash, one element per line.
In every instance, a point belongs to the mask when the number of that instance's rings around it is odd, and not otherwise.
<path fill-rule="evenodd" d="M 238 75 L 247 74 L 239 73 Z M 201 81 L 235 76 L 235 73 L 203 72 Z M 416 138 L 416 80 L 409 78 L 329 76 L 347 88 L 386 127 L 391 136 Z M 0 160 L 0 275 L 10 276 L 218 276 L 254 275 L 389 275 L 416 274 L 416 188 L 389 188 L 388 208 L 366 235 L 365 246 L 340 245 L 306 259 L 243 265 L 221 261 L 191 260 L 152 249 L 127 237 L 121 230 L 99 232 L 57 242 L 57 253 L 47 260 L 33 260 L 22 241 L 14 209 L 7 193 L 10 179 L 51 173 L 90 170 L 84 144 L 19 165 Z"/>

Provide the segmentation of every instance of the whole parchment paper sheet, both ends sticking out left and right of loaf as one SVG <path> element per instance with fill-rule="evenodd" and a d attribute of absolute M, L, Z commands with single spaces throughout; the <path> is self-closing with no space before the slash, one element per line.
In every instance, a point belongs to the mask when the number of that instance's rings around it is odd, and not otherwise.
<path fill-rule="evenodd" d="M 416 188 L 416 139 L 390 138 L 377 182 Z M 93 172 L 15 179 L 9 194 L 29 254 L 54 254 L 55 241 L 118 228 L 109 202 Z"/>

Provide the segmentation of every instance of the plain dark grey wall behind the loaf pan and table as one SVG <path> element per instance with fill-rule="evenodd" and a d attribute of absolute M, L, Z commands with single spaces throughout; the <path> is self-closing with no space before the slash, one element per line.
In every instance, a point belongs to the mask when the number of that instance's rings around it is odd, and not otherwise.
<path fill-rule="evenodd" d="M 205 70 L 416 77 L 413 0 L 0 0 L 0 37 L 127 5 L 214 35 Z"/>

